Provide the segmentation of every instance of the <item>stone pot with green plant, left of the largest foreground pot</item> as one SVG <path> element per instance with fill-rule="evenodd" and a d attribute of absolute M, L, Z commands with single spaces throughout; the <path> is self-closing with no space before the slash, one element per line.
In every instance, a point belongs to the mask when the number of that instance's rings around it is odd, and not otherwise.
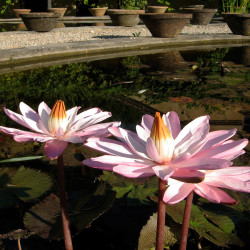
<path fill-rule="evenodd" d="M 108 15 L 115 26 L 136 26 L 139 21 L 139 15 L 145 13 L 146 0 L 119 0 L 121 9 L 108 10 Z"/>

